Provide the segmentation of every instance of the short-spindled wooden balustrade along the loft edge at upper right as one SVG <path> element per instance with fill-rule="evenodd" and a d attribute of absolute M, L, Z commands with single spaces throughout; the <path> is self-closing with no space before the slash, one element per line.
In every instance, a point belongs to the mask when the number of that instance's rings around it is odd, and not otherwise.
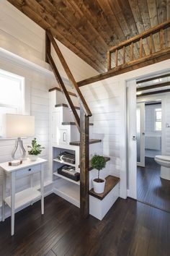
<path fill-rule="evenodd" d="M 111 55 L 115 53 L 115 69 L 117 68 L 118 64 L 118 51 L 122 49 L 122 64 L 119 65 L 119 67 L 124 67 L 125 64 L 131 64 L 132 62 L 139 61 L 140 59 L 147 58 L 148 56 L 152 56 L 154 53 L 154 38 L 153 35 L 156 33 L 159 33 L 159 40 L 160 40 L 160 50 L 156 51 L 156 53 L 160 53 L 161 51 L 164 51 L 164 30 L 170 27 L 170 20 L 167 20 L 166 22 L 163 22 L 155 27 L 151 27 L 149 30 L 146 30 L 143 33 L 140 33 L 139 35 L 135 35 L 133 38 L 130 38 L 128 40 L 125 40 L 124 42 L 118 44 L 117 46 L 113 46 L 109 48 L 109 51 L 107 51 L 107 70 L 109 71 L 112 69 L 112 64 L 111 64 Z M 143 39 L 148 38 L 148 52 L 149 55 L 147 54 L 146 56 L 143 56 Z M 135 43 L 139 43 L 139 57 L 136 59 L 135 58 Z M 126 47 L 130 46 L 130 61 L 126 61 L 125 56 L 126 56 Z"/>

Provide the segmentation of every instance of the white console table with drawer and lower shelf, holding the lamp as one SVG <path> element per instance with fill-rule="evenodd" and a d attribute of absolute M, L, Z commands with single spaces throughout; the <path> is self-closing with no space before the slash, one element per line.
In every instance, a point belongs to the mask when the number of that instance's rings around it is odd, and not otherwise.
<path fill-rule="evenodd" d="M 3 170 L 3 192 L 2 192 L 2 221 L 5 220 L 5 204 L 11 208 L 11 234 L 14 235 L 14 213 L 21 208 L 41 198 L 41 213 L 44 214 L 44 177 L 42 164 L 47 160 L 37 158 L 37 161 L 24 160 L 19 166 L 9 166 L 9 162 L 0 163 Z M 40 191 L 33 187 L 33 174 L 40 172 Z M 30 188 L 15 193 L 15 180 L 30 175 Z M 6 197 L 6 176 L 11 180 L 11 195 Z"/>

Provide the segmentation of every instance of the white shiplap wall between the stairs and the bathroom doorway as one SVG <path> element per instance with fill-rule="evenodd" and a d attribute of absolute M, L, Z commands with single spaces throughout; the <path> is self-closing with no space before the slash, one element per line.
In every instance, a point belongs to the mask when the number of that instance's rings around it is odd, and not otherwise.
<path fill-rule="evenodd" d="M 122 126 L 125 121 L 125 80 L 111 77 L 82 87 L 81 92 L 93 114 L 93 137 L 102 138 L 103 154 L 111 158 L 107 164 L 109 174 L 122 176 L 125 160 L 125 125 Z"/>

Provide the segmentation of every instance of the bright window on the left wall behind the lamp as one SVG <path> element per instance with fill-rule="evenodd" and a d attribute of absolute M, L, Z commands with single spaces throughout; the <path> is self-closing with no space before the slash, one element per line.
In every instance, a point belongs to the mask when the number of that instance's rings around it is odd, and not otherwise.
<path fill-rule="evenodd" d="M 4 136 L 5 114 L 24 111 L 24 78 L 0 69 L 0 137 Z"/>

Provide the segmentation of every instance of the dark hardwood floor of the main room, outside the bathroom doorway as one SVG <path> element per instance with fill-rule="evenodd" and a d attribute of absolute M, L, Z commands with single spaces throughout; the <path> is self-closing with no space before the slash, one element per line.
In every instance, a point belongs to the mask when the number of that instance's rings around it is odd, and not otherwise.
<path fill-rule="evenodd" d="M 103 221 L 82 219 L 79 208 L 54 194 L 0 223 L 0 255 L 168 256 L 170 214 L 135 200 L 119 199 Z"/>

